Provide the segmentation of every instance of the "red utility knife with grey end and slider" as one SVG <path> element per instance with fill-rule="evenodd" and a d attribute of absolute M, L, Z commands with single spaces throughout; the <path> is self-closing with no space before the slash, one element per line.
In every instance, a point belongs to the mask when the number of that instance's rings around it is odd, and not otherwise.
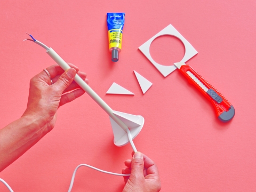
<path fill-rule="evenodd" d="M 228 122 L 235 115 L 235 109 L 231 103 L 223 97 L 209 82 L 199 75 L 193 68 L 184 62 L 174 63 L 179 71 L 193 84 L 214 106 L 217 117 L 222 122 Z"/>

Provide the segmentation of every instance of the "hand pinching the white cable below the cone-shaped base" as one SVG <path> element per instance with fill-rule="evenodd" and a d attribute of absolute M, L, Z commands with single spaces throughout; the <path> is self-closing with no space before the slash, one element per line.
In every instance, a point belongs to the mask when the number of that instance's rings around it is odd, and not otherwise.
<path fill-rule="evenodd" d="M 123 192 L 160 191 L 161 181 L 156 164 L 140 152 L 133 152 L 132 155 L 132 159 L 124 162 L 127 167 L 122 170 L 123 174 L 131 173 L 130 177 L 124 177 L 125 187 Z"/>

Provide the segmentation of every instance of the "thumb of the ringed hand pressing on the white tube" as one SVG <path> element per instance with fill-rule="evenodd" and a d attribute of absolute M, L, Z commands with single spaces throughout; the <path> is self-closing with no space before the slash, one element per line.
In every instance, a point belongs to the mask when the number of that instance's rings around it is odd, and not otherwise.
<path fill-rule="evenodd" d="M 58 79 L 56 83 L 54 83 L 54 86 L 58 87 L 58 90 L 61 91 L 61 94 L 63 91 L 73 82 L 73 79 L 76 75 L 76 69 L 69 68 L 67 69 Z"/>

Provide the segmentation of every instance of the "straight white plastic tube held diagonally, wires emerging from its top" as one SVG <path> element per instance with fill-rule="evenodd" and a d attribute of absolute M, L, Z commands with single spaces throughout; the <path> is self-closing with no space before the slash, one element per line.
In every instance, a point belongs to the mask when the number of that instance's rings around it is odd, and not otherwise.
<path fill-rule="evenodd" d="M 68 65 L 52 48 L 50 48 L 49 50 L 47 50 L 46 53 L 49 54 L 50 57 L 51 57 L 55 62 L 57 62 L 58 65 L 59 65 L 63 70 L 66 71 L 67 69 L 70 68 L 69 65 Z M 95 93 L 95 91 L 93 91 L 92 88 L 91 88 L 89 85 L 87 85 L 87 84 L 83 81 L 83 79 L 82 79 L 81 77 L 79 77 L 79 76 L 76 74 L 74 80 L 75 80 L 75 82 L 76 82 L 78 85 L 80 85 L 80 86 L 82 87 L 82 89 L 83 89 L 84 91 L 87 92 L 87 94 L 89 94 L 89 95 L 91 96 L 91 98 L 92 98 L 94 101 L 96 101 L 96 102 L 99 104 L 99 106 L 100 106 L 102 109 L 104 109 L 104 110 L 107 112 L 107 114 L 108 114 L 111 118 L 114 119 L 114 121 L 115 121 L 119 126 L 122 127 L 122 129 L 123 129 L 124 131 L 126 131 L 126 129 L 128 128 L 127 125 L 125 125 L 118 117 L 116 117 L 116 116 L 113 114 L 113 109 L 111 109 L 111 108 L 107 105 L 107 103 L 106 103 L 105 101 L 103 101 L 103 99 L 101 99 L 100 96 L 99 96 L 97 93 Z"/>

